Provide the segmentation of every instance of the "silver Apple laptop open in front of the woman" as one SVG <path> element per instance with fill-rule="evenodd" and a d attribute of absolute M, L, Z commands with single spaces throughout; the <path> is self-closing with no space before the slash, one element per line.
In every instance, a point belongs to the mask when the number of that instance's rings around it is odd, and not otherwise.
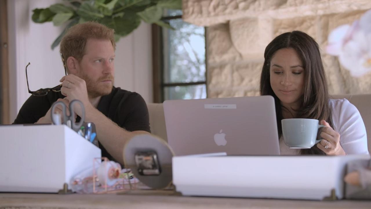
<path fill-rule="evenodd" d="M 175 155 L 279 155 L 272 96 L 167 100 L 168 144 Z"/>

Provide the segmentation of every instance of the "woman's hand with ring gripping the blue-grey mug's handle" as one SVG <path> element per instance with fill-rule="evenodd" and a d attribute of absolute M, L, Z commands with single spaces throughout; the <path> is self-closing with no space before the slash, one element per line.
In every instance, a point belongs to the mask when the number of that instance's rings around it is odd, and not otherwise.
<path fill-rule="evenodd" d="M 346 155 L 344 149 L 340 145 L 340 134 L 336 132 L 325 120 L 321 120 L 321 125 L 327 126 L 322 128 L 321 142 L 317 147 L 324 151 L 326 155 Z"/>

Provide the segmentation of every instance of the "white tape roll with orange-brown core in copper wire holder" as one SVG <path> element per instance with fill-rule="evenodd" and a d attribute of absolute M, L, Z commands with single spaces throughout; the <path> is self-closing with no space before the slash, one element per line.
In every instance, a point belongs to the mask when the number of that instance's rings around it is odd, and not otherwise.
<path fill-rule="evenodd" d="M 117 181 L 118 177 L 120 176 L 121 166 L 120 164 L 114 161 L 103 161 L 98 169 L 97 169 L 97 176 L 99 183 L 102 184 L 104 187 L 113 186 Z"/>

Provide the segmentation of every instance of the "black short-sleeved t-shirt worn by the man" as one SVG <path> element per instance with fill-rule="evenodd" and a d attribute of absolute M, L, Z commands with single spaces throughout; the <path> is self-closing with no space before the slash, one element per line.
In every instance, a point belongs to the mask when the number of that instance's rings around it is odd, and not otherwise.
<path fill-rule="evenodd" d="M 30 96 L 13 124 L 37 122 L 46 115 L 54 102 L 64 97 L 60 92 L 54 91 L 49 91 L 45 96 Z M 151 132 L 147 105 L 138 93 L 113 87 L 109 95 L 102 96 L 97 109 L 127 131 Z M 102 149 L 102 157 L 114 160 L 101 144 L 99 148 Z"/>

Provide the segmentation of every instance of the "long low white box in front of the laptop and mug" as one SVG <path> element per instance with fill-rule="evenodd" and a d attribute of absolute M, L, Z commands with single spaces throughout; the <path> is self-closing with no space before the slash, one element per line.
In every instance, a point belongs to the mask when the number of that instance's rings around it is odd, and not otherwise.
<path fill-rule="evenodd" d="M 180 156 L 173 183 L 183 195 L 322 200 L 344 196 L 345 165 L 370 155 Z"/>

